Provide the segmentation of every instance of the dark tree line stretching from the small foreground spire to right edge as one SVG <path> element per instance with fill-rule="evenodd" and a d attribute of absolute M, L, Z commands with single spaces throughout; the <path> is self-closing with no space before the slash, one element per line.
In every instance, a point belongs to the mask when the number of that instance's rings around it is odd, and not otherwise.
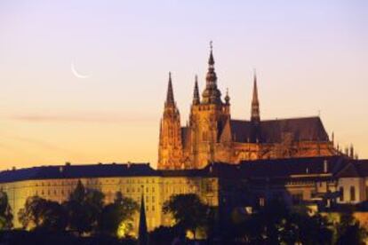
<path fill-rule="evenodd" d="M 196 236 L 202 228 L 207 241 L 215 244 L 364 244 L 367 233 L 351 213 L 340 215 L 340 223 L 306 207 L 288 207 L 275 199 L 247 214 L 234 209 L 219 220 L 219 210 L 205 205 L 196 194 L 180 194 L 164 203 L 164 213 L 175 219 L 173 227 L 160 226 L 151 233 L 153 244 L 170 244 L 189 230 Z M 162 243 L 165 241 L 166 243 Z"/>

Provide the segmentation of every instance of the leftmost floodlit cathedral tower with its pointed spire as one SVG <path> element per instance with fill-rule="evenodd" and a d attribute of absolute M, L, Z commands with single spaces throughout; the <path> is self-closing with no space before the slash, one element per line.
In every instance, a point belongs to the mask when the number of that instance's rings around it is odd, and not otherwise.
<path fill-rule="evenodd" d="M 182 167 L 180 113 L 173 97 L 171 73 L 169 73 L 164 115 L 160 124 L 158 148 L 158 169 L 180 169 Z"/>

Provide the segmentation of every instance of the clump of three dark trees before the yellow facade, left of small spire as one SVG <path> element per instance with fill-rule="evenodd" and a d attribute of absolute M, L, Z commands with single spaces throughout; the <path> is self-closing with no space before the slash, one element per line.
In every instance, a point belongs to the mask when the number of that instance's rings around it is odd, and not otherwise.
<path fill-rule="evenodd" d="M 19 220 L 24 229 L 46 232 L 72 231 L 82 234 L 124 235 L 117 233 L 119 225 L 132 220 L 138 204 L 116 193 L 115 201 L 104 204 L 104 194 L 84 188 L 78 181 L 68 201 L 59 203 L 39 196 L 29 197 L 20 209 Z"/>

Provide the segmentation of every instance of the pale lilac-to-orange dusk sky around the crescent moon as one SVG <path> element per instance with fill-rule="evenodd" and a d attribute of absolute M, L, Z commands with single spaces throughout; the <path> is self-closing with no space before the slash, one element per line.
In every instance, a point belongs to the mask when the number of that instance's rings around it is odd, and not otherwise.
<path fill-rule="evenodd" d="M 0 170 L 155 167 L 168 73 L 184 125 L 210 41 L 232 118 L 250 118 L 256 69 L 262 119 L 320 115 L 368 158 L 367 11 L 363 0 L 0 0 Z"/>

